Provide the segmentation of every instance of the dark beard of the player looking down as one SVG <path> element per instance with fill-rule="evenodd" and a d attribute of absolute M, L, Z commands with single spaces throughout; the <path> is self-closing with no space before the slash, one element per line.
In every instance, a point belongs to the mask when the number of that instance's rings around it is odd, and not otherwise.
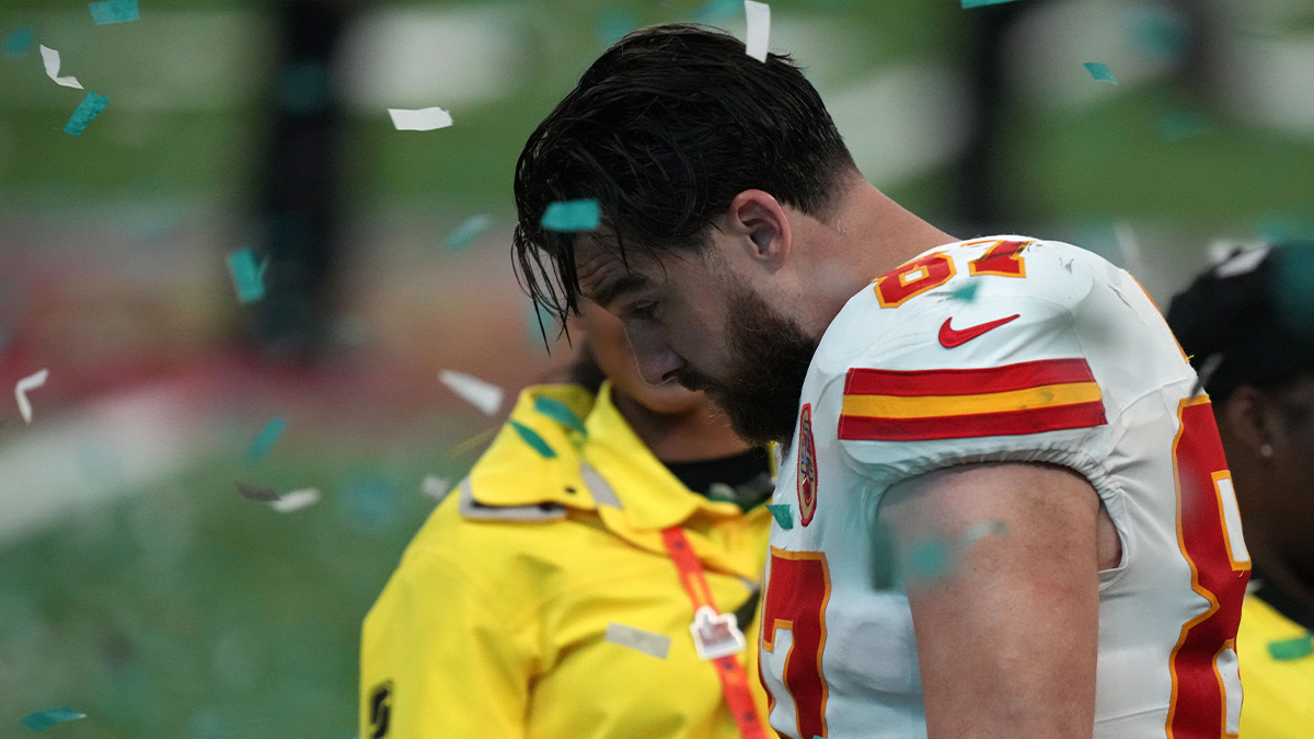
<path fill-rule="evenodd" d="M 686 371 L 679 381 L 707 391 L 744 441 L 788 446 L 819 342 L 741 285 L 729 288 L 728 316 L 727 375 L 712 380 Z"/>

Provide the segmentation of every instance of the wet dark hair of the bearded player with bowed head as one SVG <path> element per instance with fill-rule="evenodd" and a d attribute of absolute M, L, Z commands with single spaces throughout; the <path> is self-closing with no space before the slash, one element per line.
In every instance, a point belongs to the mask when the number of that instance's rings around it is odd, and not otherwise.
<path fill-rule="evenodd" d="M 857 171 L 821 97 L 787 55 L 758 62 L 695 25 L 636 30 L 604 51 L 530 135 L 515 167 L 522 287 L 561 321 L 578 313 L 573 235 L 540 225 L 548 205 L 597 200 L 599 243 L 698 252 L 745 189 L 825 217 Z"/>

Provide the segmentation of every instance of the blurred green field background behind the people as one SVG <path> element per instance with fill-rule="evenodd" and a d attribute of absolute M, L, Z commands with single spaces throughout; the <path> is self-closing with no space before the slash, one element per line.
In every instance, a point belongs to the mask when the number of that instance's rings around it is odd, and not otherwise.
<path fill-rule="evenodd" d="M 1309 3 L 771 7 L 773 50 L 807 68 L 869 179 L 959 235 L 1072 241 L 1160 305 L 1210 247 L 1314 235 Z M 35 43 L 0 58 L 0 385 L 51 370 L 32 425 L 0 410 L 0 734 L 68 705 L 88 718 L 49 736 L 348 739 L 359 623 L 434 506 L 420 481 L 459 479 L 478 452 L 463 442 L 497 425 L 436 373 L 514 391 L 569 360 L 510 271 L 520 146 L 610 41 L 675 20 L 742 36 L 742 4 L 141 8 L 96 26 L 80 1 L 0 7 L 0 37 L 30 26 L 110 97 L 70 137 L 83 92 Z M 289 18 L 317 12 L 344 18 L 331 66 L 289 55 Z M 263 195 L 275 131 L 326 101 L 339 249 L 297 304 L 322 330 L 281 342 L 283 304 L 238 305 L 225 255 L 283 238 Z M 388 107 L 430 105 L 455 125 L 392 129 Z M 476 214 L 493 226 L 445 246 Z M 280 262 L 277 284 L 304 267 Z M 246 462 L 275 416 L 286 434 Z M 323 500 L 284 515 L 235 480 Z"/>

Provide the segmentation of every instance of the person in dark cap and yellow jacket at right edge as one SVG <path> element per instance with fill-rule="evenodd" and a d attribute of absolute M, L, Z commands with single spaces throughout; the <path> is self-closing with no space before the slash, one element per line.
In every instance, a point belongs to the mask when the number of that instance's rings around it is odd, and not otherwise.
<path fill-rule="evenodd" d="M 1254 561 L 1240 736 L 1314 736 L 1314 242 L 1242 251 L 1172 300 L 1213 396 Z"/>

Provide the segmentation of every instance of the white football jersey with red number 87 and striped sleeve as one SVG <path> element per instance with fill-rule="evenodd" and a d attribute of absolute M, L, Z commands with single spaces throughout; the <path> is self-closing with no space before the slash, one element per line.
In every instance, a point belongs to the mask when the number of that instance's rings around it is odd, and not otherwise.
<path fill-rule="evenodd" d="M 1250 558 L 1197 391 L 1141 285 L 1066 243 L 953 243 L 854 296 L 808 370 L 773 501 L 792 526 L 771 531 L 762 605 L 771 726 L 925 736 L 882 498 L 949 465 L 1039 462 L 1083 475 L 1122 543 L 1100 575 L 1095 736 L 1235 734 Z"/>

